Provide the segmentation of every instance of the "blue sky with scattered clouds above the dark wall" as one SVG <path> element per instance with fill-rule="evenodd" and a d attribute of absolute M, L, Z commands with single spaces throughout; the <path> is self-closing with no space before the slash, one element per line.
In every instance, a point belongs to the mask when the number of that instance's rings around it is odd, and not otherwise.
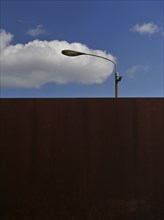
<path fill-rule="evenodd" d="M 164 1 L 1 1 L 0 97 L 164 96 Z"/>

